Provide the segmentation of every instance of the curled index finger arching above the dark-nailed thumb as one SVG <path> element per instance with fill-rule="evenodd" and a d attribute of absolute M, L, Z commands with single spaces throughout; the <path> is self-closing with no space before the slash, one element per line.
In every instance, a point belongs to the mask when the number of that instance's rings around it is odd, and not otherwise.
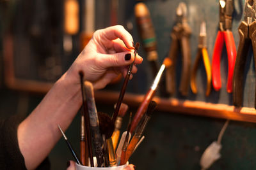
<path fill-rule="evenodd" d="M 108 27 L 106 29 L 100 30 L 102 31 L 102 36 L 106 37 L 109 40 L 114 40 L 120 38 L 124 41 L 125 46 L 129 49 L 134 49 L 132 42 L 131 34 L 124 29 L 122 25 L 115 25 L 113 27 Z"/>

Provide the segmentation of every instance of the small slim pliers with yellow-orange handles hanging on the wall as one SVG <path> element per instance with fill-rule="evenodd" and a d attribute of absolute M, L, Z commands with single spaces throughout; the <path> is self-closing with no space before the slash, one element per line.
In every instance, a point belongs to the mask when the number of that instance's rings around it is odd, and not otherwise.
<path fill-rule="evenodd" d="M 212 81 L 212 73 L 211 73 L 211 64 L 209 60 L 209 55 L 207 52 L 207 41 L 206 41 L 206 26 L 205 22 L 202 22 L 200 25 L 200 34 L 199 34 L 199 43 L 198 43 L 198 51 L 196 53 L 195 64 L 193 66 L 191 72 L 191 79 L 190 79 L 190 87 L 194 94 L 197 93 L 196 88 L 196 70 L 200 64 L 200 59 L 202 57 L 204 61 L 205 72 L 207 76 L 207 89 L 205 92 L 206 96 L 209 96 L 211 92 L 211 81 Z"/>

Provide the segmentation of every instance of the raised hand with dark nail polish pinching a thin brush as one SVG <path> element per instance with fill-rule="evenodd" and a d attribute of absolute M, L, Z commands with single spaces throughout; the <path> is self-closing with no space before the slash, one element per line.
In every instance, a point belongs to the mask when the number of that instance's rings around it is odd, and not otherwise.
<path fill-rule="evenodd" d="M 73 80 L 75 78 L 74 82 L 79 84 L 78 73 L 83 71 L 84 79 L 91 81 L 95 89 L 104 88 L 119 73 L 126 75 L 127 66 L 134 60 L 132 42 L 131 34 L 121 25 L 96 31 L 68 69 L 67 76 Z M 134 64 L 141 64 L 142 60 L 136 55 Z M 136 71 L 136 66 L 132 67 L 132 73 Z"/>

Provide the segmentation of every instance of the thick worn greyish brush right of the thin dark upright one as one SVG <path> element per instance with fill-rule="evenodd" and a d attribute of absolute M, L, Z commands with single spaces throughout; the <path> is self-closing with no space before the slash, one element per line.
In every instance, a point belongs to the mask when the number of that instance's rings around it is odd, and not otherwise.
<path fill-rule="evenodd" d="M 104 153 L 103 153 L 103 140 L 100 134 L 99 118 L 97 115 L 97 108 L 95 105 L 93 85 L 89 81 L 84 82 L 86 102 L 88 113 L 90 117 L 90 129 L 92 132 L 92 142 L 95 155 L 97 158 L 98 167 L 104 167 Z"/>

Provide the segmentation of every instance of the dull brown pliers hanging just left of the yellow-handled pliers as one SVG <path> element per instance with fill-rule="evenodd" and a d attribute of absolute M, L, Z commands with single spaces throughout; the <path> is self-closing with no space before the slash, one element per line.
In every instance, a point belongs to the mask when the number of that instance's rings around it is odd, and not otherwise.
<path fill-rule="evenodd" d="M 187 22 L 187 7 L 185 3 L 179 3 L 176 10 L 177 24 L 173 26 L 171 32 L 172 43 L 168 57 L 173 61 L 172 66 L 166 69 L 166 92 L 173 94 L 175 92 L 175 71 L 178 51 L 182 54 L 182 75 L 180 80 L 179 92 L 182 96 L 188 95 L 189 76 L 191 67 L 191 53 L 189 46 L 189 37 L 191 29 Z M 181 49 L 180 49 L 181 48 Z"/>

